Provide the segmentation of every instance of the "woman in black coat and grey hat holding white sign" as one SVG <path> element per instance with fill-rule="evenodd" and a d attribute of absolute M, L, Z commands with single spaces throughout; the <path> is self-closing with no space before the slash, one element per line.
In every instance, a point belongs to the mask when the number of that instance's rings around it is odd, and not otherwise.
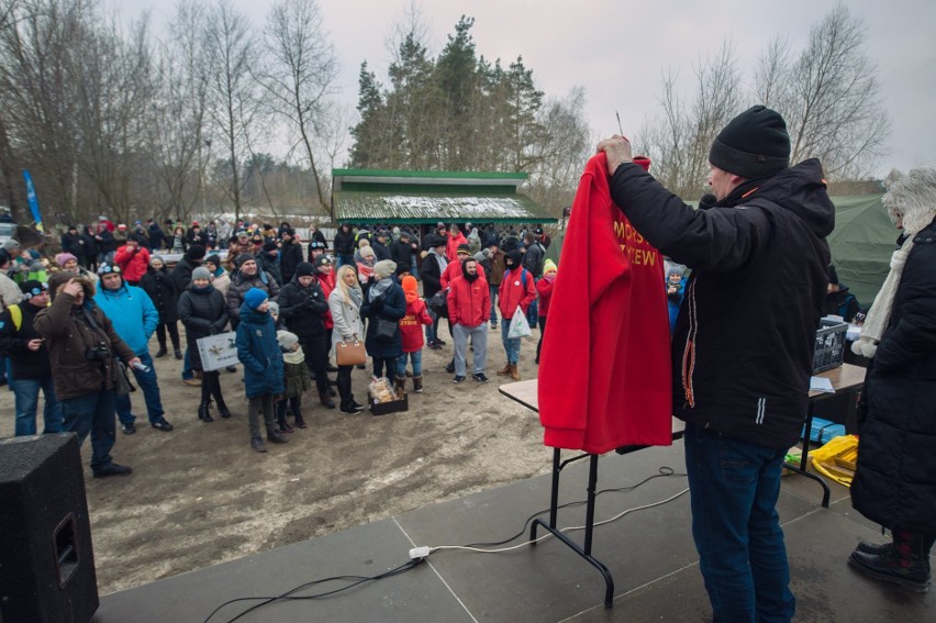
<path fill-rule="evenodd" d="M 222 418 L 231 418 L 231 411 L 221 396 L 221 380 L 218 370 L 204 371 L 201 356 L 198 352 L 198 340 L 216 335 L 227 325 L 227 301 L 224 296 L 211 285 L 211 274 L 208 268 L 199 266 L 192 270 L 192 282 L 189 289 L 179 297 L 179 319 L 186 327 L 186 346 L 193 370 L 202 370 L 201 402 L 198 405 L 198 419 L 212 422 L 211 397 L 218 405 Z"/>

